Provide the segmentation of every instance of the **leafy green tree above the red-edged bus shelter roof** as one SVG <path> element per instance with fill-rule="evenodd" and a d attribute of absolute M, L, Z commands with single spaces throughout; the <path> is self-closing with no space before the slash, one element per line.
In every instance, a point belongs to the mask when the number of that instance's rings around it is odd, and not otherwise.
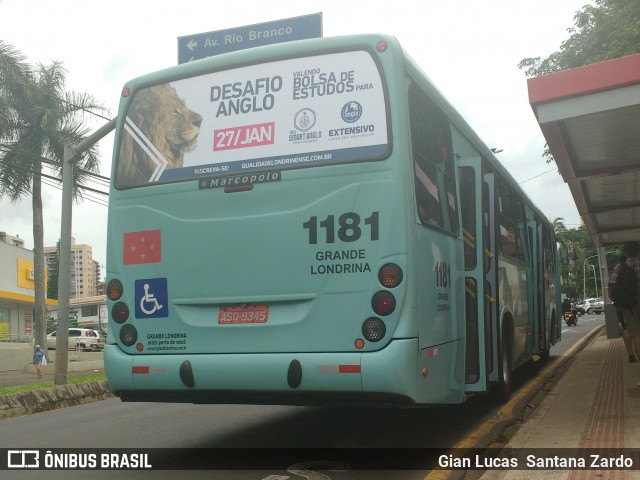
<path fill-rule="evenodd" d="M 576 12 L 570 37 L 547 58 L 525 58 L 518 67 L 528 77 L 611 60 L 640 52 L 640 2 L 594 0 Z"/>

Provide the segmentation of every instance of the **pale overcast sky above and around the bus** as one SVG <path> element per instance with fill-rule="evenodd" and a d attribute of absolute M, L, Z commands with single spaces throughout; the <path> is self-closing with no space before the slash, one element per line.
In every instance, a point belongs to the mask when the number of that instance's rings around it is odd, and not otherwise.
<path fill-rule="evenodd" d="M 575 228 L 580 217 L 568 186 L 542 158 L 544 137 L 518 69 L 526 57 L 546 57 L 569 37 L 574 14 L 588 0 L 0 0 L 0 39 L 32 64 L 64 62 L 67 89 L 87 92 L 117 112 L 122 86 L 175 65 L 178 37 L 321 12 L 323 35 L 387 33 L 469 122 L 534 203 Z M 93 130 L 106 121 L 95 118 Z M 101 174 L 111 176 L 113 134 L 100 142 Z M 99 184 L 92 187 L 107 191 Z M 108 198 L 74 204 L 76 243 L 106 263 Z M 45 246 L 60 237 L 61 191 L 46 187 Z M 0 200 L 0 231 L 33 248 L 31 201 Z M 104 269 L 103 269 L 104 275 Z"/>

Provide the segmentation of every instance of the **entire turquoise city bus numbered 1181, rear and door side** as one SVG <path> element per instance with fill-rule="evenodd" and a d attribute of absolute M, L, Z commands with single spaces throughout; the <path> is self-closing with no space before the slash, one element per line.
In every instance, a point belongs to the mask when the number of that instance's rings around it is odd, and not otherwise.
<path fill-rule="evenodd" d="M 132 80 L 108 222 L 123 401 L 506 401 L 560 339 L 552 225 L 389 36 Z"/>

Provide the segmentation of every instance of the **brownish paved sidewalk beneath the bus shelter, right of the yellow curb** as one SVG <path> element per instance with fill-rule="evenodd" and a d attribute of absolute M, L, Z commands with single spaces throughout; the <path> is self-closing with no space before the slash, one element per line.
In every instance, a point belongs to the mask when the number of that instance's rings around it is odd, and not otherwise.
<path fill-rule="evenodd" d="M 640 362 L 629 363 L 622 337 L 608 339 L 602 329 L 576 353 L 504 448 L 640 448 Z M 635 470 L 491 470 L 482 480 L 640 479 Z"/>

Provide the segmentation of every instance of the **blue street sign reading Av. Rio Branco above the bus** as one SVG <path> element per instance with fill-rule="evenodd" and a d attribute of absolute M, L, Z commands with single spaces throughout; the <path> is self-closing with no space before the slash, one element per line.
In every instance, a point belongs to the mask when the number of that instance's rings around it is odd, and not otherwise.
<path fill-rule="evenodd" d="M 322 37 L 322 13 L 178 37 L 178 63 L 273 43 Z"/>

